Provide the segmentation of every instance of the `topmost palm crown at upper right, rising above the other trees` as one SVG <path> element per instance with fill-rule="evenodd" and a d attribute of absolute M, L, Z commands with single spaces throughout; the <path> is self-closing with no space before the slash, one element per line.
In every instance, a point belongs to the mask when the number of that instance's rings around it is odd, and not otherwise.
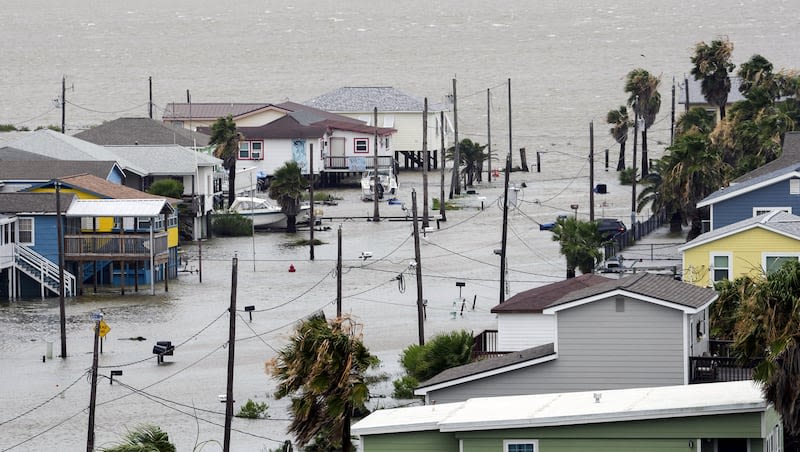
<path fill-rule="evenodd" d="M 711 41 L 711 44 L 698 42 L 692 56 L 692 75 L 701 80 L 700 89 L 709 104 L 719 108 L 720 119 L 725 119 L 725 105 L 731 92 L 731 78 L 728 75 L 736 67 L 731 63 L 733 43 L 727 39 Z"/>

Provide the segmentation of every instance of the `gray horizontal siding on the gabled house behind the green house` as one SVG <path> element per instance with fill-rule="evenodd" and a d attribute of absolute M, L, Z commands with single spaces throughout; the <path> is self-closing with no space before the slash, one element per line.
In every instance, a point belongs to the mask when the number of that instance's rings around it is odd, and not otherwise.
<path fill-rule="evenodd" d="M 681 311 L 626 298 L 599 300 L 558 312 L 558 358 L 430 391 L 428 400 L 590 391 L 685 383 Z"/>

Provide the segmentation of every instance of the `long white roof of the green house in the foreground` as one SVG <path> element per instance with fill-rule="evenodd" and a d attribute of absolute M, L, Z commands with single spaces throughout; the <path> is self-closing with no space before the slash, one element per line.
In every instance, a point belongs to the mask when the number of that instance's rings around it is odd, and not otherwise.
<path fill-rule="evenodd" d="M 376 410 L 355 435 L 482 431 L 756 413 L 767 409 L 753 381 L 473 398 Z"/>

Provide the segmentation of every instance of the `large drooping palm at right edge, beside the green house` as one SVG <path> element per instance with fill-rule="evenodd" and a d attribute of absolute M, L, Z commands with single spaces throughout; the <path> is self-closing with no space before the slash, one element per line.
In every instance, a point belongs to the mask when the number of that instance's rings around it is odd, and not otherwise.
<path fill-rule="evenodd" d="M 753 371 L 753 380 L 761 384 L 764 398 L 781 415 L 787 451 L 797 451 L 800 438 L 798 293 L 800 263 L 793 260 L 739 292 L 734 327 L 734 351 L 739 357 L 763 357 Z"/>

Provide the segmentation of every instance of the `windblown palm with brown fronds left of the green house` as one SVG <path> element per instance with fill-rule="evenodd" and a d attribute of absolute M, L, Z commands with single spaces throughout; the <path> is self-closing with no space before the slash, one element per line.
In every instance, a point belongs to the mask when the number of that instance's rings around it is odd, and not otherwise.
<path fill-rule="evenodd" d="M 379 364 L 349 317 L 301 322 L 267 369 L 278 380 L 275 397 L 291 397 L 289 431 L 300 445 L 320 434 L 332 447 L 352 450 L 350 419 L 369 399 L 365 372 Z"/>

